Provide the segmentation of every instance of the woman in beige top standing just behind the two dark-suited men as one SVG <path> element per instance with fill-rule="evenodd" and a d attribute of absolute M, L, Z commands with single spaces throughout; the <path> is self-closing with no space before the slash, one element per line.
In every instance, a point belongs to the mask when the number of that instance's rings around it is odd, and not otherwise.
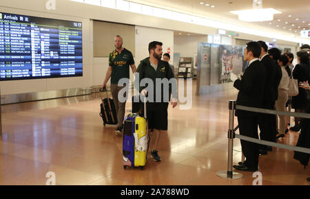
<path fill-rule="evenodd" d="M 279 95 L 278 100 L 276 100 L 276 110 L 280 111 L 287 111 L 286 104 L 289 99 L 289 94 L 287 93 L 287 90 L 289 89 L 289 73 L 287 72 L 287 69 L 285 69 L 288 62 L 289 59 L 284 55 L 280 56 L 278 59 L 278 64 L 282 70 L 282 78 L 278 86 Z M 285 115 L 278 115 L 278 117 L 279 119 L 277 119 L 277 126 L 279 134 L 277 134 L 277 138 L 285 137 L 285 130 L 287 130 L 287 119 Z"/>

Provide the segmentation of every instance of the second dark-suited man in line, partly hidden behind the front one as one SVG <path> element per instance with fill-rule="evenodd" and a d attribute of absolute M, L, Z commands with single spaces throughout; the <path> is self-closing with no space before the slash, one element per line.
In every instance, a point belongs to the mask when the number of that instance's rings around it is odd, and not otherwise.
<path fill-rule="evenodd" d="M 269 54 L 267 54 L 268 46 L 266 43 L 259 40 L 258 44 L 262 50 L 260 54 L 260 63 L 262 63 L 265 67 L 267 75 L 264 89 L 263 108 L 274 110 L 274 106 L 278 98 L 278 86 L 282 78 L 282 71 L 280 67 L 276 65 L 276 62 L 271 59 Z M 280 57 L 280 55 L 276 55 L 276 53 L 273 54 L 275 58 Z M 280 69 L 280 71 L 278 69 Z M 260 114 L 260 117 L 258 117 L 258 124 L 260 127 L 260 139 L 265 141 L 274 141 L 277 134 L 276 115 L 262 113 Z M 260 154 L 267 154 L 267 150 L 271 150 L 271 148 L 267 147 L 267 145 L 260 145 Z"/>

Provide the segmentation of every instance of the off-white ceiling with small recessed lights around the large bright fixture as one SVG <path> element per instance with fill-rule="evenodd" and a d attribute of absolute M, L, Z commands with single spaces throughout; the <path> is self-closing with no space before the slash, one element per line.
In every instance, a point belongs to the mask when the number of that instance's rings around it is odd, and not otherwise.
<path fill-rule="evenodd" d="M 252 23 L 238 21 L 238 16 L 229 11 L 252 9 L 253 0 L 138 0 L 138 2 L 145 5 L 158 5 L 158 7 L 166 8 L 167 10 L 180 10 L 207 16 L 210 19 L 238 23 L 246 27 L 268 28 L 278 32 L 295 34 L 296 37 L 300 36 L 301 30 L 310 29 L 309 0 L 263 0 L 262 8 L 274 8 L 282 12 L 282 14 L 275 14 L 273 21 Z M 204 4 L 201 5 L 200 2 Z M 206 3 L 209 5 L 205 5 Z M 211 5 L 215 7 L 211 8 Z"/>

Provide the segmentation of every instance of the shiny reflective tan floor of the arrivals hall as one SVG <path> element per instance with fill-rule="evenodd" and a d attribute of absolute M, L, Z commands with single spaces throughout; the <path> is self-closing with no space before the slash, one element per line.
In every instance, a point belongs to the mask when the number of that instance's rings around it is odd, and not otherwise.
<path fill-rule="evenodd" d="M 241 172 L 238 180 L 216 176 L 227 169 L 228 101 L 236 100 L 235 89 L 193 95 L 190 110 L 169 106 L 169 130 L 158 148 L 162 161 L 148 156 L 143 171 L 123 169 L 122 138 L 99 116 L 101 95 L 2 106 L 0 185 L 45 185 L 48 172 L 56 174 L 56 185 L 252 185 L 255 180 L 251 172 Z M 297 140 L 298 133 L 289 132 L 279 143 Z M 234 164 L 240 150 L 235 139 Z M 309 167 L 294 160 L 292 151 L 273 148 L 260 156 L 259 172 L 262 185 L 310 185 Z"/>

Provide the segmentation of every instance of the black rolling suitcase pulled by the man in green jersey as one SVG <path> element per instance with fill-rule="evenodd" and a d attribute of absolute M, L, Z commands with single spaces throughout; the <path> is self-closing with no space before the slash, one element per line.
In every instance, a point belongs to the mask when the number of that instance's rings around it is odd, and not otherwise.
<path fill-rule="evenodd" d="M 103 90 L 100 89 L 102 92 Z M 105 94 L 107 95 L 107 90 L 104 90 Z M 105 124 L 117 124 L 117 116 L 116 116 L 116 108 L 114 106 L 113 100 L 107 95 L 106 98 L 101 99 L 100 104 L 100 113 L 99 115 L 103 119 L 103 126 Z"/>

